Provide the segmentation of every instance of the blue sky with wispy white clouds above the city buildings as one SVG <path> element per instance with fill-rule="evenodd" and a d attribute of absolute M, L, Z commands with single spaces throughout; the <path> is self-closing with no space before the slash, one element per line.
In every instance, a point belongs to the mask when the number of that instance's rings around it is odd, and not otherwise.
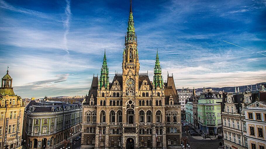
<path fill-rule="evenodd" d="M 178 88 L 265 82 L 265 0 L 133 0 L 132 7 L 140 72 L 150 79 L 158 47 L 164 79 L 173 73 Z M 85 95 L 104 48 L 110 78 L 122 72 L 128 15 L 124 0 L 0 0 L 0 75 L 9 66 L 22 98 Z"/>

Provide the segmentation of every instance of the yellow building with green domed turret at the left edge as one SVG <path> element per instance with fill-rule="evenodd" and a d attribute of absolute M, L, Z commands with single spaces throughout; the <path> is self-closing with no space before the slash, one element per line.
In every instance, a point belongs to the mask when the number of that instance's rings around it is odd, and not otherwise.
<path fill-rule="evenodd" d="M 2 78 L 0 88 L 0 149 L 20 149 L 24 102 L 12 87 L 13 79 L 8 74 Z"/>

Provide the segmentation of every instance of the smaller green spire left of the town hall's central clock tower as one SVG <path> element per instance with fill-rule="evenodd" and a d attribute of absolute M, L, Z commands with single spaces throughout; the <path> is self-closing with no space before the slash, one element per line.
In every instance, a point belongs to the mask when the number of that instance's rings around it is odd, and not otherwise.
<path fill-rule="evenodd" d="M 104 49 L 104 56 L 103 56 L 103 65 L 101 67 L 101 76 L 100 76 L 100 88 L 104 86 L 107 88 L 107 85 L 109 84 L 109 68 L 107 66 L 107 61 L 106 61 L 106 53 Z"/>

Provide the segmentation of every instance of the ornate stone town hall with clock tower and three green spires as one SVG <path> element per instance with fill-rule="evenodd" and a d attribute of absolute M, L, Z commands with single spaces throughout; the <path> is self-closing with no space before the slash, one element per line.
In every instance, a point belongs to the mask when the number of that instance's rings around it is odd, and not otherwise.
<path fill-rule="evenodd" d="M 122 52 L 122 51 L 121 51 Z M 130 3 L 122 74 L 109 82 L 104 52 L 101 75 L 93 76 L 83 104 L 81 148 L 177 148 L 181 105 L 173 76 L 163 82 L 157 51 L 153 79 L 139 73 L 139 53 Z"/>

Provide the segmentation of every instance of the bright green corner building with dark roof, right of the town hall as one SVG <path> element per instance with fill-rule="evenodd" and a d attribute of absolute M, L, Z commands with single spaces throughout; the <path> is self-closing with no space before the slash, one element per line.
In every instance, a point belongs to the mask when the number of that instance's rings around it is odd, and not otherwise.
<path fill-rule="evenodd" d="M 215 92 L 201 94 L 198 99 L 199 128 L 205 134 L 222 132 L 221 104 L 217 102 L 222 102 L 222 95 Z"/>

